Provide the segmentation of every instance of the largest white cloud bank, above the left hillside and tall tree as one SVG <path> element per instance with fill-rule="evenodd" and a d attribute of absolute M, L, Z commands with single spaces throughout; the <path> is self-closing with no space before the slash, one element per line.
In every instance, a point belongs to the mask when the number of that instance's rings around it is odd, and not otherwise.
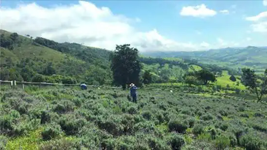
<path fill-rule="evenodd" d="M 190 42 L 170 40 L 155 29 L 139 32 L 131 25 L 140 22 L 139 18 L 115 15 L 109 8 L 98 8 L 87 1 L 50 8 L 35 3 L 22 4 L 17 8 L 1 7 L 0 14 L 3 30 L 41 36 L 57 42 L 83 43 L 110 50 L 116 44 L 131 44 L 140 51 L 192 51 L 200 47 Z"/>

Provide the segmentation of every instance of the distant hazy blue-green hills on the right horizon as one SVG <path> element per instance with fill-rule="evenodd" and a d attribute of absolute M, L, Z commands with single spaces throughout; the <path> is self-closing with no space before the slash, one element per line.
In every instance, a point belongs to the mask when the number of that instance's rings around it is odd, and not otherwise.
<path fill-rule="evenodd" d="M 249 66 L 257 72 L 263 72 L 264 68 L 267 67 L 266 47 L 228 47 L 194 52 L 145 52 L 142 55 L 146 57 L 194 59 L 200 63 L 232 66 L 234 69 Z"/>

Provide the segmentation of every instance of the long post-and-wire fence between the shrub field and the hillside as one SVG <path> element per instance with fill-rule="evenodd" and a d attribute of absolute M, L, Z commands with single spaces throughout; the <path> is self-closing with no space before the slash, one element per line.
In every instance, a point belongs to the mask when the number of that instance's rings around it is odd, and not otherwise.
<path fill-rule="evenodd" d="M 61 83 L 46 83 L 46 82 L 24 82 L 24 81 L 3 81 L 0 80 L 0 85 L 5 84 L 5 85 L 10 85 L 12 88 L 15 88 L 18 85 L 22 86 L 22 89 L 25 88 L 25 85 L 37 85 L 39 88 L 44 87 L 44 86 L 80 86 L 80 84 L 61 84 Z M 87 87 L 99 87 L 99 88 L 111 88 L 111 89 L 121 89 L 122 87 L 107 87 L 107 86 L 96 86 L 96 85 L 87 85 Z M 162 90 L 162 89 L 143 89 L 143 90 Z M 167 89 L 166 89 L 167 90 Z M 193 91 L 182 91 L 182 90 L 173 90 L 176 92 L 183 92 L 183 93 L 190 93 L 190 94 L 205 94 L 206 92 L 193 92 Z M 235 100 L 245 100 L 245 98 L 242 97 L 235 97 L 235 96 L 230 96 L 230 95 L 224 95 L 224 94 L 212 94 L 214 96 L 221 96 L 226 99 L 235 99 Z"/>

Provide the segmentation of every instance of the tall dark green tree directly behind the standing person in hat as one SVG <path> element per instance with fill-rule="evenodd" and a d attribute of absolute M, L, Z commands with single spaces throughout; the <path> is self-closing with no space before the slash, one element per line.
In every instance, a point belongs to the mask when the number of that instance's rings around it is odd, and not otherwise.
<path fill-rule="evenodd" d="M 140 83 L 142 65 L 138 60 L 138 50 L 130 44 L 116 45 L 116 50 L 111 54 L 111 70 L 115 84 L 121 85 L 123 90 L 126 84 Z"/>

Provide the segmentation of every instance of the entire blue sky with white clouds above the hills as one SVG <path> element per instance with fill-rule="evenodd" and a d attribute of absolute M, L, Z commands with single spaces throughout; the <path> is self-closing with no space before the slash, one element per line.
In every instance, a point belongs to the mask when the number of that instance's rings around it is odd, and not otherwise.
<path fill-rule="evenodd" d="M 0 28 L 114 50 L 267 46 L 267 0 L 1 0 Z"/>

